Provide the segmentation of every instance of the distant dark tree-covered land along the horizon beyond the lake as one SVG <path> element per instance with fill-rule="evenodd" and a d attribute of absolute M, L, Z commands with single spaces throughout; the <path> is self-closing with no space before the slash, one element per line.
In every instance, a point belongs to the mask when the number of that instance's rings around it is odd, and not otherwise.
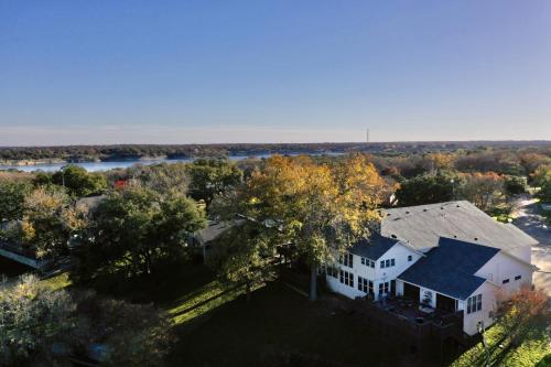
<path fill-rule="evenodd" d="M 266 156 L 271 154 L 402 154 L 479 149 L 549 149 L 550 140 L 529 141 L 418 141 L 241 144 L 118 144 L 0 147 L 0 165 L 24 168 L 68 163 L 149 162 L 192 160 L 201 156 Z"/>

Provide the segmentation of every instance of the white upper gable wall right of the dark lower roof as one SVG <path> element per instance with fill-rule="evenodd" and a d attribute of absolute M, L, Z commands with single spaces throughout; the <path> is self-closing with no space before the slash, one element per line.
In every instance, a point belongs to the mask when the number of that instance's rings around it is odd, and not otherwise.
<path fill-rule="evenodd" d="M 505 293 L 518 290 L 523 283 L 532 283 L 532 268 L 511 258 L 503 251 L 498 252 L 485 263 L 484 267 L 476 272 L 476 276 L 501 287 Z M 520 280 L 515 280 L 517 276 L 521 277 Z M 505 279 L 509 279 L 509 282 L 506 284 L 503 283 Z"/>

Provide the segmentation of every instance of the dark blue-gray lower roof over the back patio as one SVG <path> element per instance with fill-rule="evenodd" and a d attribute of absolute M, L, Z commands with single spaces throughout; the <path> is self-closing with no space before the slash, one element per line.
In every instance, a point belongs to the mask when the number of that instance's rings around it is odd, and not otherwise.
<path fill-rule="evenodd" d="M 437 247 L 402 272 L 398 279 L 466 300 L 486 280 L 475 273 L 499 249 L 452 238 L 440 238 Z"/>

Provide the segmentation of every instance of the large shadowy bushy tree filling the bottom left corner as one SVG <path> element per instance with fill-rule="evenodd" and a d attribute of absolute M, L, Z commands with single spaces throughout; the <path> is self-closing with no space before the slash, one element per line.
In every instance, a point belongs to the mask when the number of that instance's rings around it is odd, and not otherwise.
<path fill-rule="evenodd" d="M 102 366 L 162 366 L 176 341 L 173 322 L 152 304 L 93 291 L 54 289 L 25 276 L 0 288 L 0 365 L 68 366 L 67 356 L 102 344 Z"/>

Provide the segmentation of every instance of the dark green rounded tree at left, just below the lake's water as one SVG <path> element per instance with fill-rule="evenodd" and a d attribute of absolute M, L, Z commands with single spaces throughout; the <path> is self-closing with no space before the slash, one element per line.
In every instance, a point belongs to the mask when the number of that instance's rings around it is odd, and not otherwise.
<path fill-rule="evenodd" d="M 78 165 L 68 164 L 52 175 L 52 183 L 64 186 L 72 196 L 99 194 L 107 190 L 107 180 L 100 173 L 88 173 Z"/>

